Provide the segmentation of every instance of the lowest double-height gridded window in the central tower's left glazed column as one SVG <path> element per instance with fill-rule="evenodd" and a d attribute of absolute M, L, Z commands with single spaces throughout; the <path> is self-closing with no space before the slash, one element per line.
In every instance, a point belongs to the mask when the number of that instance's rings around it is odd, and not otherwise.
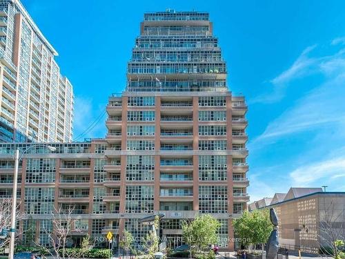
<path fill-rule="evenodd" d="M 152 213 L 154 186 L 126 186 L 126 213 Z"/>

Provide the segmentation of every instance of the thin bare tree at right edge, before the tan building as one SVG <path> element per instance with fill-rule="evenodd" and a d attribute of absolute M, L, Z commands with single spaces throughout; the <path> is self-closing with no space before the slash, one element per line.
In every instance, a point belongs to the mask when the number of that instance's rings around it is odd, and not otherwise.
<path fill-rule="evenodd" d="M 329 202 L 327 199 L 322 200 L 322 208 L 319 213 L 319 249 L 325 256 L 334 256 L 339 258 L 341 249 L 339 240 L 344 240 L 344 209 L 335 204 L 334 201 Z M 341 243 L 341 242 L 340 242 Z"/>

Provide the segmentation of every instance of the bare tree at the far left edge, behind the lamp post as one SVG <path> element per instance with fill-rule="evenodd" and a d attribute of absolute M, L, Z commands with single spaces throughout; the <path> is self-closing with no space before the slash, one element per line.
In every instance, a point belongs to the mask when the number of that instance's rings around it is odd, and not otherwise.
<path fill-rule="evenodd" d="M 19 211 L 20 204 L 17 204 L 16 220 L 21 220 L 22 213 Z M 10 242 L 12 199 L 0 199 L 0 248 L 7 247 Z M 16 231 L 16 239 L 20 236 Z"/>

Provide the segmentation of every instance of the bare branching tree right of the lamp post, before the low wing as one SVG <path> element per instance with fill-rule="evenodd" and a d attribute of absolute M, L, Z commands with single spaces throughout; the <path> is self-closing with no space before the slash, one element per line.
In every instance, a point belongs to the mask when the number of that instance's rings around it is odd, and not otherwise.
<path fill-rule="evenodd" d="M 67 249 L 67 244 L 71 240 L 72 234 L 85 231 L 77 224 L 80 217 L 76 215 L 74 206 L 70 206 L 67 209 L 61 209 L 61 207 L 58 209 L 54 208 L 50 220 L 52 222 L 52 229 L 44 229 L 44 232 L 48 235 L 52 244 L 53 251 L 50 251 L 50 254 L 53 258 L 79 258 L 94 246 L 90 242 L 89 237 L 86 236 L 80 249 Z"/>

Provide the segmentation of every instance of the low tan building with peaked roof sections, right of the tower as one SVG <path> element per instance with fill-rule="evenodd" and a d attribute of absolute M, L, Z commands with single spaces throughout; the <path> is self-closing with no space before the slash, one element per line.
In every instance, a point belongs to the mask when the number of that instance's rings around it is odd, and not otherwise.
<path fill-rule="evenodd" d="M 249 204 L 249 210 L 274 208 L 279 218 L 279 245 L 288 249 L 319 253 L 331 247 L 331 236 L 345 237 L 345 193 L 323 192 L 317 189 L 308 194 L 276 201 L 266 207 Z M 282 193 L 279 193 L 282 194 Z M 276 195 L 275 195 L 276 196 Z M 282 198 L 282 195 L 278 195 Z"/>

